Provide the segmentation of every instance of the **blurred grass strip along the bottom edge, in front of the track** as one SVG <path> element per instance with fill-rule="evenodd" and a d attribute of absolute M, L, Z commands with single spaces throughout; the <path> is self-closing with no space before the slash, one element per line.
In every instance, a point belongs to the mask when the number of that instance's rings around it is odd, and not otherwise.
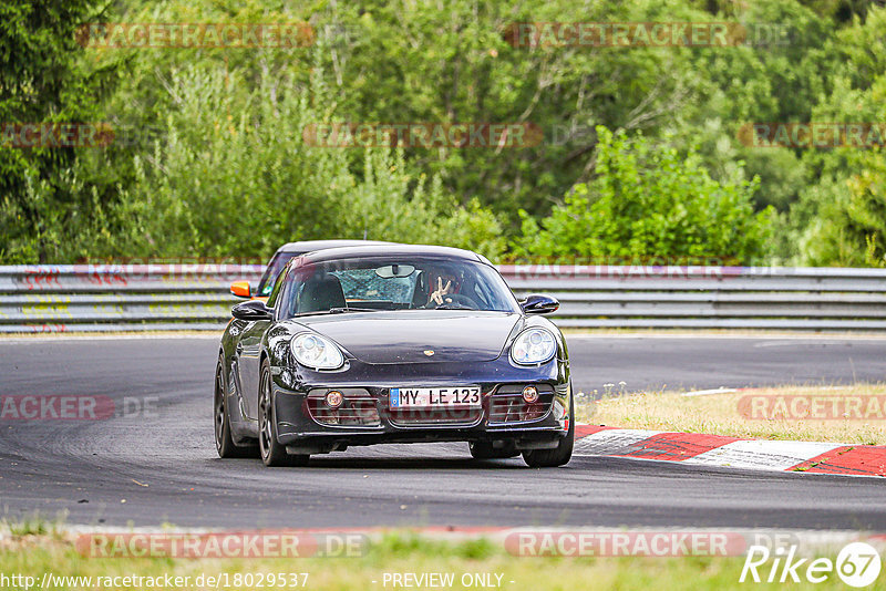
<path fill-rule="evenodd" d="M 831 557 L 834 558 L 833 556 Z M 78 552 L 70 539 L 47 536 L 19 536 L 0 539 L 0 573 L 33 577 L 38 585 L 44 573 L 55 577 L 91 577 L 91 587 L 59 583 L 52 589 L 106 589 L 97 577 L 172 577 L 218 576 L 228 573 L 229 587 L 220 589 L 257 589 L 240 582 L 236 574 L 308 573 L 303 589 L 371 590 L 394 589 L 385 573 L 453 573 L 455 584 L 447 589 L 478 589 L 461 583 L 464 574 L 501 576 L 499 589 L 563 590 L 576 589 L 656 589 L 720 590 L 735 589 L 744 563 L 742 557 L 671 557 L 671 558 L 524 558 L 505 551 L 503 545 L 487 539 L 441 541 L 413 533 L 389 533 L 369 545 L 359 558 L 297 559 L 172 559 L 172 558 L 87 558 Z M 767 571 L 766 571 L 767 574 Z M 764 574 L 765 576 L 765 574 Z M 299 580 L 301 580 L 299 578 Z M 55 579 L 58 581 L 58 579 Z M 374 581 L 374 582 L 373 582 Z M 513 581 L 513 582 L 512 582 Z M 81 583 L 83 581 L 81 580 Z M 781 589 L 784 583 L 749 583 L 754 589 Z M 793 589 L 845 589 L 836 574 L 821 584 L 805 581 Z M 142 582 L 122 584 L 125 589 L 159 589 Z M 197 589 L 173 587 L 165 589 Z M 204 587 L 206 588 L 206 587 Z M 269 587 L 265 589 L 302 589 Z M 400 587 L 402 588 L 402 587 Z M 427 587 L 421 587 L 425 589 Z M 213 588 L 214 589 L 214 588 Z M 48 590 L 41 590 L 48 591 Z"/>

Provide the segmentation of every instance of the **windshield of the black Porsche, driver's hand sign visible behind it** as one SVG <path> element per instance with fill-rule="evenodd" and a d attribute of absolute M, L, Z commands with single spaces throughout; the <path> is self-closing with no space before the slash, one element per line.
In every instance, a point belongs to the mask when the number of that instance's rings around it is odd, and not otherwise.
<path fill-rule="evenodd" d="M 297 267 L 282 282 L 277 300 L 280 318 L 375 310 L 519 310 L 511 289 L 488 265 L 430 257 Z"/>

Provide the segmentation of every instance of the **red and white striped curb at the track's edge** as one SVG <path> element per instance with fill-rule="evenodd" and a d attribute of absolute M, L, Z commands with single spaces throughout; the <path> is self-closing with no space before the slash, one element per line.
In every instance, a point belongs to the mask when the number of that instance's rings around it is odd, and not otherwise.
<path fill-rule="evenodd" d="M 615 456 L 758 470 L 886 476 L 886 446 L 740 439 L 576 425 L 575 456 Z"/>

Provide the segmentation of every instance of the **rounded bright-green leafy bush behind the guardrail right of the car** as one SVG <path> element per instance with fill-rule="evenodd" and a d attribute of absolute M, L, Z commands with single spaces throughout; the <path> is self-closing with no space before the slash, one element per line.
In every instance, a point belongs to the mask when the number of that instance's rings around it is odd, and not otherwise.
<path fill-rule="evenodd" d="M 598 127 L 596 176 L 540 225 L 523 212 L 519 258 L 749 263 L 766 253 L 771 210 L 754 215 L 758 182 L 717 182 L 697 153 Z"/>

